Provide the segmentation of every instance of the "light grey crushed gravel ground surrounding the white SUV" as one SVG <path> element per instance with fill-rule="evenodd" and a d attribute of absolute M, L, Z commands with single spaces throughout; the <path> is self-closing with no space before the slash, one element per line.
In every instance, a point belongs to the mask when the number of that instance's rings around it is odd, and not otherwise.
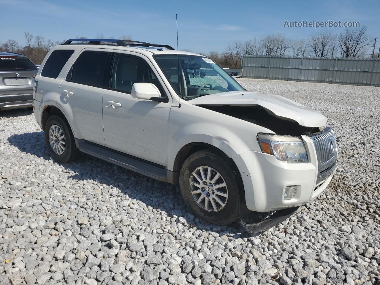
<path fill-rule="evenodd" d="M 322 195 L 250 236 L 198 220 L 178 187 L 55 163 L 31 111 L 2 111 L 0 284 L 380 284 L 380 89 L 238 80 L 329 117 L 339 165 Z"/>

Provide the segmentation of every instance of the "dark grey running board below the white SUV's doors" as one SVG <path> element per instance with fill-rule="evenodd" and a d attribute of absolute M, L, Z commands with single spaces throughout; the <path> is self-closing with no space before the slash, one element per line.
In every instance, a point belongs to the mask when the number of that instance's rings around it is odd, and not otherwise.
<path fill-rule="evenodd" d="M 111 162 L 123 168 L 135 171 L 142 175 L 151 177 L 156 180 L 169 182 L 172 184 L 178 183 L 174 180 L 174 173 L 166 169 L 164 166 L 158 166 L 149 161 L 143 161 L 131 155 L 123 154 L 108 147 L 99 146 L 84 139 L 75 139 L 76 147 L 81 152 Z"/>

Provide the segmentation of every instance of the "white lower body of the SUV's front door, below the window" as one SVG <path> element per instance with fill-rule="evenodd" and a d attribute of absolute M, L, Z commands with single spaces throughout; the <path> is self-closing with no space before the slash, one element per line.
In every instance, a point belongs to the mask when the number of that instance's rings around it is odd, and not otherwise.
<path fill-rule="evenodd" d="M 107 101 L 120 103 L 112 107 Z M 166 165 L 169 103 L 140 100 L 130 94 L 105 90 L 103 127 L 106 146 Z"/>

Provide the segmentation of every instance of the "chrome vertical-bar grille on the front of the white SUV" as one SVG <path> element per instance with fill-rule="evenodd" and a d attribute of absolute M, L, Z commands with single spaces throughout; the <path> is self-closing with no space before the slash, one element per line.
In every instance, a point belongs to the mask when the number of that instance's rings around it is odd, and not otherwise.
<path fill-rule="evenodd" d="M 311 134 L 310 138 L 313 140 L 315 151 L 317 152 L 319 172 L 317 183 L 319 183 L 326 179 L 335 168 L 337 159 L 336 140 L 334 131 L 329 127 L 320 133 Z M 327 171 L 328 173 L 326 173 Z"/>

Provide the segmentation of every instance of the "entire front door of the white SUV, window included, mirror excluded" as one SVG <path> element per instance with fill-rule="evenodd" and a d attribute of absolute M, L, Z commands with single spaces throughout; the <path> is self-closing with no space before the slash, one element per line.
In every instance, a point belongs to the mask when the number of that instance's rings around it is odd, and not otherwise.
<path fill-rule="evenodd" d="M 153 83 L 161 96 L 166 96 L 157 75 L 145 60 L 127 54 L 115 54 L 111 71 L 112 90 L 105 89 L 103 94 L 106 146 L 166 165 L 171 101 L 165 103 L 133 98 L 130 92 L 137 82 Z"/>

